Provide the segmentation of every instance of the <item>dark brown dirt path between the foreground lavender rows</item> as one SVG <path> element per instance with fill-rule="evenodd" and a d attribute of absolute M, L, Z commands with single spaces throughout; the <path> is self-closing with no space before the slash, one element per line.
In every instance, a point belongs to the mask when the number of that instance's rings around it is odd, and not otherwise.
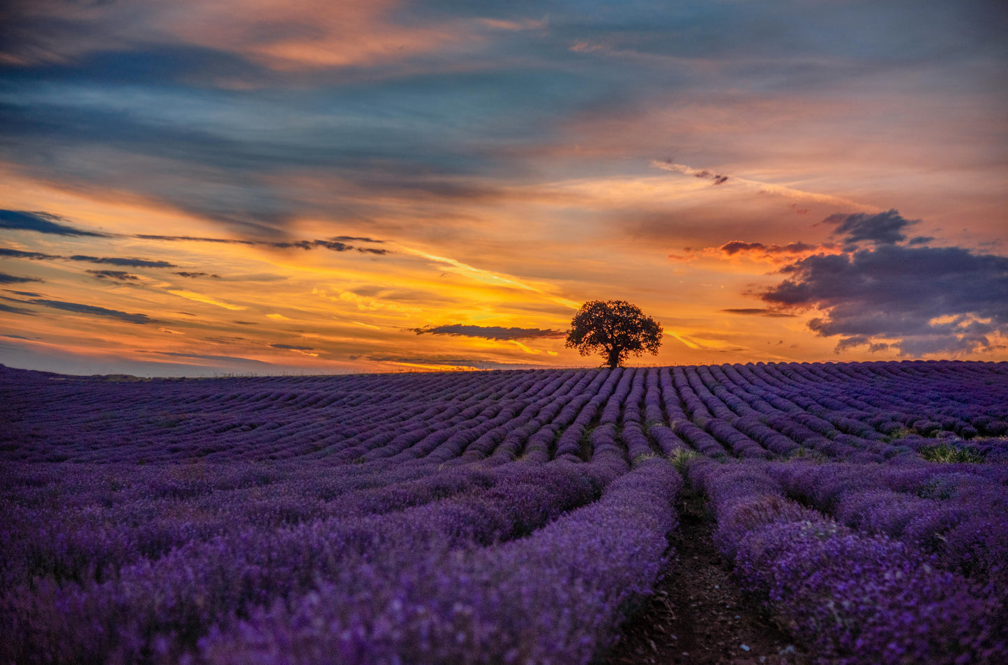
<path fill-rule="evenodd" d="M 807 658 L 745 598 L 711 533 L 706 498 L 684 490 L 676 555 L 655 594 L 624 626 L 605 665 L 803 665 Z"/>

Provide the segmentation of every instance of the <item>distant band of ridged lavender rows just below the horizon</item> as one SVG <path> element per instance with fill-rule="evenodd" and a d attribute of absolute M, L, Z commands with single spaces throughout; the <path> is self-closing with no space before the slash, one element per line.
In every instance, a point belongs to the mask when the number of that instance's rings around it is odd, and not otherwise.
<path fill-rule="evenodd" d="M 771 364 L 109 382 L 6 371 L 7 460 L 321 462 L 813 452 L 1004 456 L 1008 366 Z M 58 412 L 58 421 L 46 418 Z"/>

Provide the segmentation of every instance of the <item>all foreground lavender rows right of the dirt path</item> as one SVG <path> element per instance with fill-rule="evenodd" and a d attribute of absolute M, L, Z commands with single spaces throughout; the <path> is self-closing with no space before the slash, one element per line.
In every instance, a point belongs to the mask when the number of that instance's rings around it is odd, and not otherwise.
<path fill-rule="evenodd" d="M 1003 663 L 1008 470 L 940 467 L 699 458 L 686 470 L 743 589 L 815 662 Z"/>

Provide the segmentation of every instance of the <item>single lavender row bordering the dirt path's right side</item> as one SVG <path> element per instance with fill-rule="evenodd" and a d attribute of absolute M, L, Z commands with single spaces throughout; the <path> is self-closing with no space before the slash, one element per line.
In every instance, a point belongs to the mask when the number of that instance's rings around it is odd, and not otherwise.
<path fill-rule="evenodd" d="M 687 463 L 743 589 L 823 663 L 1004 662 L 1004 604 L 906 543 L 788 500 L 763 463 Z"/>

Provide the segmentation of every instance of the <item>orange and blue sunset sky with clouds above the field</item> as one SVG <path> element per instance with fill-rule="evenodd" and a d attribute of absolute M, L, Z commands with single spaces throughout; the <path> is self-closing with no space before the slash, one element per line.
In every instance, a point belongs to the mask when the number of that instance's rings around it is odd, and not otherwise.
<path fill-rule="evenodd" d="M 8 0 L 0 363 L 1008 360 L 1008 8 Z"/>

